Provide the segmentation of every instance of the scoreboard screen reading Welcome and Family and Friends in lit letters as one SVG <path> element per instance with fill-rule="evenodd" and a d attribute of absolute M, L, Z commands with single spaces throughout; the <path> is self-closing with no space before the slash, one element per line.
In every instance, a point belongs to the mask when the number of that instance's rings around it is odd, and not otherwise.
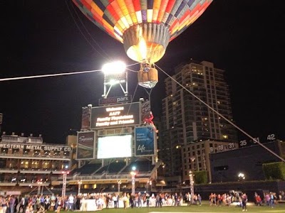
<path fill-rule="evenodd" d="M 140 124 L 140 102 L 91 109 L 91 129 Z"/>

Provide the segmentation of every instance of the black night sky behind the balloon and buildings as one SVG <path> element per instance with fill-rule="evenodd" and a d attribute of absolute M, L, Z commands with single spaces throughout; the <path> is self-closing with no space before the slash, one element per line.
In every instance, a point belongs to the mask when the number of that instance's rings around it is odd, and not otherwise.
<path fill-rule="evenodd" d="M 226 70 L 237 126 L 261 141 L 269 133 L 285 139 L 282 8 L 281 1 L 214 0 L 170 42 L 157 65 L 171 74 L 175 65 L 190 58 L 214 62 Z M 123 44 L 91 23 L 71 1 L 9 1 L 1 10 L 1 79 L 100 70 L 111 58 L 135 63 L 125 55 Z M 160 72 L 151 93 L 155 116 L 160 114 L 164 78 Z M 129 80 L 135 101 L 147 98 L 142 87 L 135 92 L 135 72 L 129 72 Z M 80 129 L 81 107 L 97 106 L 103 74 L 0 81 L 0 94 L 2 131 L 41 133 L 46 143 L 64 143 L 69 129 Z M 240 133 L 240 139 L 247 136 Z"/>

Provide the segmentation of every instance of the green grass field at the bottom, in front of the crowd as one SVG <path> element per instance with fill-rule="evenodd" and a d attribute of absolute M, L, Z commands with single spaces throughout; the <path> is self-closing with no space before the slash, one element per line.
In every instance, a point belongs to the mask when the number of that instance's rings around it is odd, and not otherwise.
<path fill-rule="evenodd" d="M 65 211 L 61 211 L 65 212 Z M 215 207 L 209 206 L 207 202 L 204 202 L 202 206 L 192 205 L 190 207 L 182 206 L 182 207 L 142 207 L 142 208 L 129 208 L 129 209 L 102 209 L 96 212 L 110 212 L 110 213 L 125 213 L 125 212 L 135 212 L 135 213 L 155 213 L 155 212 L 242 212 L 242 207 Z M 249 204 L 247 207 L 247 212 L 284 212 L 285 213 L 285 204 L 276 204 L 274 208 L 266 207 L 266 206 L 254 206 L 253 204 Z M 90 213 L 90 212 L 89 212 Z"/>

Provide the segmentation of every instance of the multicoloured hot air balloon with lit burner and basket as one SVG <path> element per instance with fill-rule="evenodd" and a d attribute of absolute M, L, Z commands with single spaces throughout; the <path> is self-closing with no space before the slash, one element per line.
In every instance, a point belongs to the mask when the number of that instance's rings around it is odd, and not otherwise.
<path fill-rule="evenodd" d="M 168 43 L 204 13 L 213 0 L 73 0 L 96 26 L 123 43 L 125 53 L 140 62 L 138 82 L 154 87 L 154 63 Z"/>

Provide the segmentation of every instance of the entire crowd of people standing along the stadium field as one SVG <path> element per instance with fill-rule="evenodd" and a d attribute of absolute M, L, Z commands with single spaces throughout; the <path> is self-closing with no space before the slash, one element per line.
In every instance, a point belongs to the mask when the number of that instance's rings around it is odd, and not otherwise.
<path fill-rule="evenodd" d="M 269 192 L 264 195 L 254 194 L 254 203 L 256 205 L 266 205 L 274 207 L 277 199 L 284 198 L 285 193 L 280 192 L 279 197 L 276 193 Z M 180 206 L 187 204 L 202 205 L 202 197 L 199 194 L 192 195 L 187 192 L 182 193 L 135 193 L 130 195 L 128 192 L 119 194 L 113 193 L 95 193 L 88 195 L 24 195 L 24 196 L 0 196 L 0 213 L 46 213 L 47 211 L 60 213 L 61 209 L 66 211 L 86 211 L 88 204 L 86 201 L 95 207 L 95 209 L 103 208 L 140 208 L 140 207 L 163 207 L 163 206 Z M 248 197 L 246 193 L 224 193 L 209 195 L 210 206 L 229 206 L 233 202 L 237 202 L 237 206 L 242 207 L 242 211 L 247 211 Z"/>

